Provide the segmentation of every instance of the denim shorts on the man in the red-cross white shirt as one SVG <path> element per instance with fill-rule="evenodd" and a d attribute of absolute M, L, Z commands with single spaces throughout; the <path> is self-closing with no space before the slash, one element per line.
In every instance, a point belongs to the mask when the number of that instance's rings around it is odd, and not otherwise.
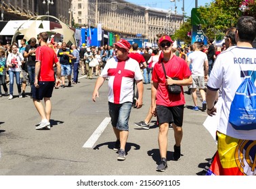
<path fill-rule="evenodd" d="M 114 104 L 108 102 L 108 111 L 111 117 L 111 124 L 118 130 L 129 130 L 129 117 L 131 113 L 131 102 Z"/>

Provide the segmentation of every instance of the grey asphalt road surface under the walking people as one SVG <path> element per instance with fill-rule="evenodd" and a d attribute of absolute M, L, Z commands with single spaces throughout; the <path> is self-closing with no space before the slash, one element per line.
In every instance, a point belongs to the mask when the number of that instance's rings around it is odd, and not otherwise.
<path fill-rule="evenodd" d="M 217 146 L 202 126 L 207 114 L 192 111 L 192 97 L 186 94 L 182 159 L 171 160 L 174 139 L 173 130 L 169 130 L 169 167 L 163 173 L 155 171 L 160 160 L 156 118 L 153 117 L 150 130 L 133 125 L 148 113 L 150 84 L 144 85 L 144 106 L 131 111 L 125 161 L 116 160 L 117 153 L 112 150 L 116 138 L 110 124 L 98 133 L 100 137 L 91 148 L 84 148 L 109 117 L 108 86 L 105 81 L 100 97 L 93 103 L 95 76 L 93 80 L 82 77 L 79 82 L 54 90 L 51 130 L 35 130 L 41 121 L 39 114 L 30 97 L 18 98 L 16 84 L 12 101 L 0 98 L 0 175 L 200 175 L 215 153 Z M 26 92 L 29 91 L 28 86 Z"/>

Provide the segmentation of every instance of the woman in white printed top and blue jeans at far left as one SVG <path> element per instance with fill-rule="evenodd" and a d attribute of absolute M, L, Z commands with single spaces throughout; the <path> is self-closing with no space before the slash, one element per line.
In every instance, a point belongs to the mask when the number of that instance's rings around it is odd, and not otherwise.
<path fill-rule="evenodd" d="M 22 98 L 20 85 L 20 72 L 22 71 L 22 61 L 24 61 L 24 57 L 21 53 L 18 53 L 18 45 L 12 45 L 12 53 L 9 53 L 6 61 L 6 65 L 9 68 L 9 100 L 12 100 L 14 98 L 14 75 L 18 87 L 19 98 Z"/>

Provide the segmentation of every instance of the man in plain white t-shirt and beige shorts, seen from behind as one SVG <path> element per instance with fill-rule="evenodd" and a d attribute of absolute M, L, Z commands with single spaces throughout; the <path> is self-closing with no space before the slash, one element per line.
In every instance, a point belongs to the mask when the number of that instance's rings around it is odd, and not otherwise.
<path fill-rule="evenodd" d="M 194 53 L 190 53 L 188 55 L 188 66 L 192 65 L 192 78 L 193 83 L 190 86 L 192 91 L 192 99 L 194 102 L 193 110 L 198 111 L 197 105 L 197 95 L 196 95 L 196 88 L 199 89 L 200 95 L 202 97 L 202 111 L 207 109 L 207 103 L 205 101 L 205 79 L 207 79 L 208 74 L 208 59 L 205 53 L 200 51 L 200 42 L 196 41 L 193 44 Z"/>

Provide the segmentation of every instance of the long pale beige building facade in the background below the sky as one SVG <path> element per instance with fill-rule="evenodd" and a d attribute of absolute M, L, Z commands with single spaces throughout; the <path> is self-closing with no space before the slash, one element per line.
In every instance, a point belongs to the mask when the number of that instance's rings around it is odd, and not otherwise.
<path fill-rule="evenodd" d="M 174 34 L 183 16 L 174 11 L 142 7 L 123 0 L 72 0 L 70 21 L 75 26 L 102 29 L 121 37 L 142 36 L 156 43 L 157 34 Z M 71 22 L 70 22 L 71 23 Z"/>

